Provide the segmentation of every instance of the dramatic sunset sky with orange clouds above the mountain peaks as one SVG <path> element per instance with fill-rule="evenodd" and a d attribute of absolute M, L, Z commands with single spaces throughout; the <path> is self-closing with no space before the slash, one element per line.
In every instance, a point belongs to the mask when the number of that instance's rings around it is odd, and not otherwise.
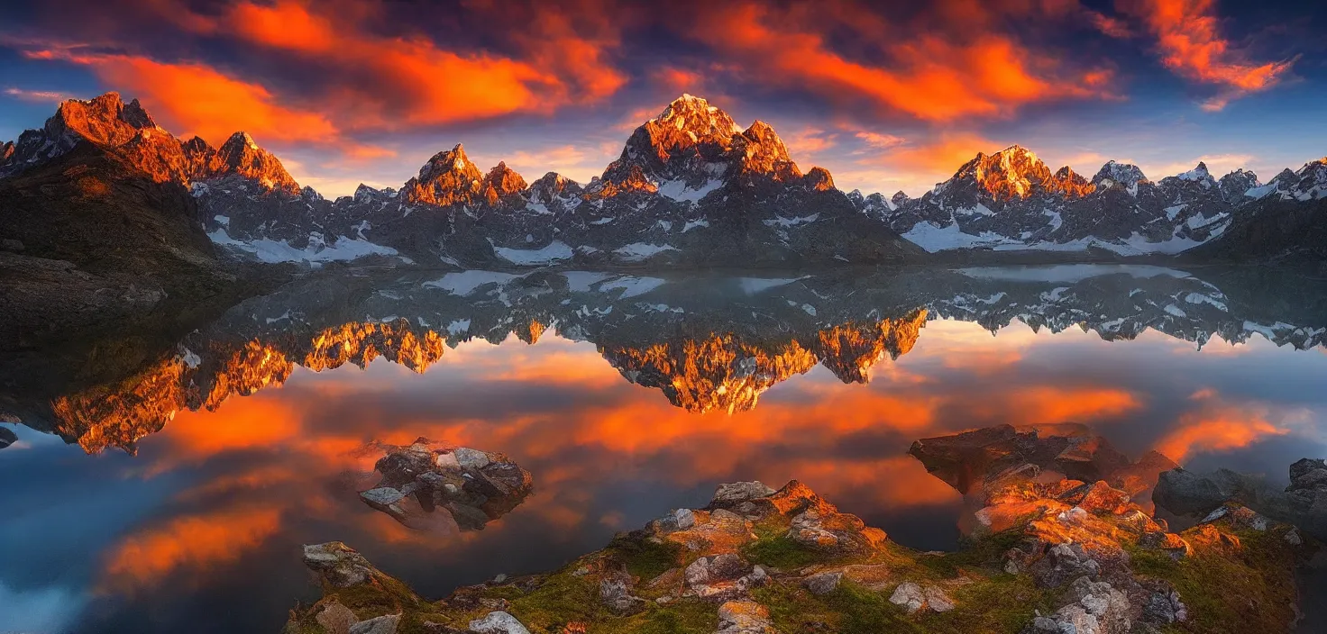
<path fill-rule="evenodd" d="M 1319 1 L 0 4 L 0 139 L 118 90 L 178 135 L 251 133 L 326 195 L 397 187 L 456 142 L 584 182 L 683 92 L 885 194 L 1013 143 L 1153 179 L 1327 154 Z"/>

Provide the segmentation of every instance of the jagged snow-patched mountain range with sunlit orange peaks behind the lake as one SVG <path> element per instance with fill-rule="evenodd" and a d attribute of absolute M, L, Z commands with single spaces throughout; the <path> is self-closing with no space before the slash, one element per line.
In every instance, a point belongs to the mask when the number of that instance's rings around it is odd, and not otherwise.
<path fill-rule="evenodd" d="M 1052 172 L 1013 146 L 978 154 L 921 198 L 886 199 L 841 192 L 820 167 L 803 172 L 767 123 L 742 129 L 691 95 L 637 127 L 585 184 L 555 172 L 527 182 L 504 163 L 482 171 L 456 145 L 399 190 L 360 186 L 326 200 L 249 135 L 216 149 L 180 141 L 115 93 L 66 101 L 42 129 L 0 146 L 0 182 L 52 166 L 68 174 L 61 158 L 82 143 L 138 178 L 187 187 L 211 241 L 261 261 L 796 267 L 999 251 L 1327 259 L 1327 158 L 1267 183 L 1245 170 L 1218 179 L 1202 163 L 1152 182 L 1113 160 L 1091 179 Z"/>

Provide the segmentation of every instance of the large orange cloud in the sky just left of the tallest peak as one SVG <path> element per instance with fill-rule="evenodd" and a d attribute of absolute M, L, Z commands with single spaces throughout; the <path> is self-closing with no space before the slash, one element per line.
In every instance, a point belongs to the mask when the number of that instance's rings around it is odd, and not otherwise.
<path fill-rule="evenodd" d="M 483 3 L 471 8 L 487 11 Z M 608 50 L 616 34 L 581 36 L 568 16 L 540 9 L 528 28 L 512 29 L 525 58 L 458 53 L 425 37 L 381 36 L 354 20 L 334 20 L 301 1 L 240 3 L 215 23 L 184 24 L 284 50 L 311 65 L 333 65 L 344 77 L 325 98 L 345 127 L 398 129 L 504 114 L 545 113 L 592 102 L 626 84 Z M 202 24 L 202 25 L 199 25 Z"/>

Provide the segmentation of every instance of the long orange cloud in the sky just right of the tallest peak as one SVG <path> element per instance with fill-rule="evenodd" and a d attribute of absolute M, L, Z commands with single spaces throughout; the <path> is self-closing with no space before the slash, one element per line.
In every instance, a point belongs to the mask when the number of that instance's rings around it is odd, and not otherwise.
<path fill-rule="evenodd" d="M 762 77 L 831 97 L 864 99 L 926 121 L 1006 117 L 1020 105 L 1101 97 L 1100 72 L 1063 72 L 1011 37 L 987 32 L 949 40 L 922 34 L 886 46 L 890 61 L 869 65 L 831 50 L 827 37 L 756 4 L 717 11 L 693 34 L 744 58 Z"/>

